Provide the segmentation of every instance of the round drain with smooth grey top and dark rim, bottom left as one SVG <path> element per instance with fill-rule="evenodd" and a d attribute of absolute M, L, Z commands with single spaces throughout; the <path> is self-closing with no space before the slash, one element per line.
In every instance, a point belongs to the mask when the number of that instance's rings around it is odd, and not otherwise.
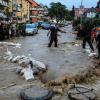
<path fill-rule="evenodd" d="M 41 87 L 31 86 L 21 91 L 22 100 L 50 100 L 53 92 Z"/>

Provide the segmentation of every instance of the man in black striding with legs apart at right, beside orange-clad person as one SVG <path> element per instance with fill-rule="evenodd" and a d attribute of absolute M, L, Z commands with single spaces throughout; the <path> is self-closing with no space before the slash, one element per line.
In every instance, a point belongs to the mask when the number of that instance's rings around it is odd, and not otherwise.
<path fill-rule="evenodd" d="M 82 44 L 82 47 L 85 49 L 85 46 L 86 46 L 86 42 L 89 44 L 90 48 L 92 51 L 94 51 L 94 48 L 93 48 L 93 45 L 92 45 L 92 42 L 91 42 L 91 35 L 90 35 L 90 32 L 88 32 L 86 29 L 85 29 L 85 26 L 82 25 L 81 26 L 81 34 L 82 34 L 82 37 L 83 37 L 83 44 Z"/>

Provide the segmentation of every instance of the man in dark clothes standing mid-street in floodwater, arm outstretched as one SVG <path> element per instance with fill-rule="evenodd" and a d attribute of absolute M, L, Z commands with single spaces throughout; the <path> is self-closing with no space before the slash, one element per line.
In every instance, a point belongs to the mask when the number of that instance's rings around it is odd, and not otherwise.
<path fill-rule="evenodd" d="M 59 29 L 58 24 L 51 26 L 50 31 L 48 32 L 47 36 L 50 34 L 50 42 L 48 44 L 48 47 L 51 47 L 52 43 L 55 43 L 55 47 L 57 47 L 58 39 L 57 37 L 59 36 L 57 33 L 58 31 L 66 33 L 65 31 L 62 31 Z"/>

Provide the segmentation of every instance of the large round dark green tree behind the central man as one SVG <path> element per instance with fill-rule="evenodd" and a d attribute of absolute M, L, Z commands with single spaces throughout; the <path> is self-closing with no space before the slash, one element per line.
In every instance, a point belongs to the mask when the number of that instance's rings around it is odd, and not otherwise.
<path fill-rule="evenodd" d="M 61 4 L 60 2 L 51 3 L 50 8 L 48 9 L 49 16 L 53 19 L 56 19 L 58 23 L 60 20 L 64 20 L 66 18 L 67 9 L 66 6 Z"/>

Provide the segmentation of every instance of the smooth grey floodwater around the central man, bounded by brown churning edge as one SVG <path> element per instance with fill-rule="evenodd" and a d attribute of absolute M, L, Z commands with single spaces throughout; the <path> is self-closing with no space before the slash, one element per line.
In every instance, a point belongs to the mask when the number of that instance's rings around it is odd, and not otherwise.
<path fill-rule="evenodd" d="M 63 28 L 67 33 L 60 33 L 58 37 L 58 48 L 48 48 L 49 39 L 47 30 L 39 30 L 39 34 L 32 37 L 20 37 L 10 42 L 21 43 L 21 48 L 11 48 L 15 55 L 31 54 L 36 60 L 44 62 L 48 66 L 48 71 L 41 79 L 44 82 L 55 80 L 67 75 L 75 75 L 79 71 L 85 70 L 91 64 L 91 59 L 87 53 L 82 50 L 81 45 L 75 46 L 75 43 L 80 44 L 75 40 L 75 35 L 71 34 L 72 27 Z"/>

